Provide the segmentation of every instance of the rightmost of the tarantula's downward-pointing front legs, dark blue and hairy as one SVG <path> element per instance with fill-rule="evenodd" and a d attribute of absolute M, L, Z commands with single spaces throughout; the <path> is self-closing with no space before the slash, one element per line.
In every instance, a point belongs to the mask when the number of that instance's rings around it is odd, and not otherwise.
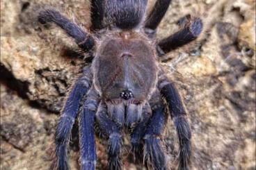
<path fill-rule="evenodd" d="M 173 118 L 177 135 L 179 138 L 179 169 L 189 169 L 189 158 L 191 156 L 191 130 L 186 119 L 181 96 L 173 83 L 163 80 L 159 83 L 161 95 L 168 103 L 171 117 Z"/>

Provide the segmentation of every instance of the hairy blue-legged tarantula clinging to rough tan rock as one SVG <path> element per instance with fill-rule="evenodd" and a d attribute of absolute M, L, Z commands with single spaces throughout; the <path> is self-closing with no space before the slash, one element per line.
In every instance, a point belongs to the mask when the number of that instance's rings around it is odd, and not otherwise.
<path fill-rule="evenodd" d="M 147 0 L 94 0 L 90 30 L 53 8 L 40 11 L 41 24 L 61 27 L 83 51 L 93 55 L 90 67 L 83 69 L 70 88 L 58 121 L 56 169 L 69 168 L 67 146 L 78 113 L 81 169 L 95 169 L 97 130 L 109 142 L 109 169 L 121 169 L 124 129 L 129 132 L 134 153 L 147 162 L 145 166 L 168 169 L 161 134 L 169 112 L 179 138 L 179 169 L 189 169 L 191 130 L 186 110 L 159 58 L 195 40 L 202 31 L 202 21 L 187 17 L 180 31 L 155 40 L 156 28 L 169 4 L 170 0 L 158 0 L 145 16 Z M 143 154 L 136 152 L 140 148 Z"/>

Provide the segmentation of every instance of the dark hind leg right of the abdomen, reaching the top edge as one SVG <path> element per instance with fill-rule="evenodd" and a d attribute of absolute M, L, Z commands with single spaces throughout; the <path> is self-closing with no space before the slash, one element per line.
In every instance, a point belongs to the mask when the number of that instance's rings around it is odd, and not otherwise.
<path fill-rule="evenodd" d="M 154 35 L 157 26 L 160 24 L 163 16 L 166 14 L 171 0 L 158 0 L 154 4 L 153 10 L 147 17 L 145 22 L 146 32 L 149 35 Z"/>

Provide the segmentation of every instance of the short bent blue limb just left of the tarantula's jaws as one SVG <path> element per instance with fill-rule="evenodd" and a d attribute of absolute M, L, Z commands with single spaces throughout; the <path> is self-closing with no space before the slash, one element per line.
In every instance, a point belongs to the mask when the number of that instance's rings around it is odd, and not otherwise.
<path fill-rule="evenodd" d="M 120 128 L 107 116 L 106 105 L 103 103 L 99 105 L 96 119 L 99 128 L 109 138 L 109 169 L 122 169 L 120 162 L 120 148 L 122 146 Z"/>

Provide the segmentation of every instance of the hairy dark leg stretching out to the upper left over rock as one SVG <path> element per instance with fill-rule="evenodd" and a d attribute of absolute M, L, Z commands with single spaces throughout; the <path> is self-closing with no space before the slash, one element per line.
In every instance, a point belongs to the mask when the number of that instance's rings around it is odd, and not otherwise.
<path fill-rule="evenodd" d="M 95 40 L 89 33 L 83 31 L 77 24 L 70 22 L 67 17 L 61 15 L 60 12 L 52 8 L 40 11 L 38 22 L 41 24 L 56 24 L 56 26 L 62 28 L 67 35 L 74 38 L 75 42 L 81 49 L 83 49 L 83 51 L 89 51 L 95 44 Z"/>

